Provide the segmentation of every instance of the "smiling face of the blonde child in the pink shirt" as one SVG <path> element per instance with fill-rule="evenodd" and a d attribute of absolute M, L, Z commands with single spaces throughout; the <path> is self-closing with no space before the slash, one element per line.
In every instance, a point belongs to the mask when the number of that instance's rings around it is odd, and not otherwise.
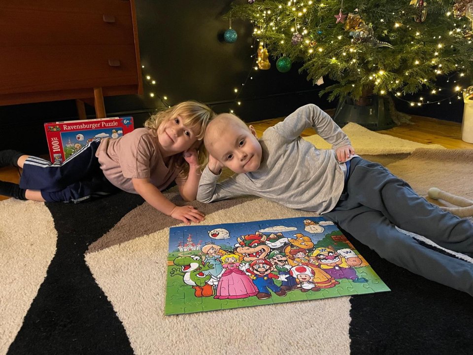
<path fill-rule="evenodd" d="M 158 142 L 163 156 L 171 156 L 191 148 L 199 134 L 196 127 L 189 127 L 181 116 L 170 118 L 159 126 Z"/>

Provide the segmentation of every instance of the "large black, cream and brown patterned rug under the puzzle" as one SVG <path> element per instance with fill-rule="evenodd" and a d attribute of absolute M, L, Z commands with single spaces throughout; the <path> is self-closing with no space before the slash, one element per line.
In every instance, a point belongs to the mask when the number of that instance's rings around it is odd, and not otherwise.
<path fill-rule="evenodd" d="M 473 150 L 370 158 L 389 161 L 422 195 L 436 186 L 473 199 Z M 182 204 L 175 188 L 166 195 Z M 206 224 L 307 215 L 260 198 L 191 204 Z M 391 292 L 165 316 L 176 225 L 125 192 L 78 205 L 2 201 L 0 354 L 472 352 L 471 296 L 386 262 L 349 235 Z"/>

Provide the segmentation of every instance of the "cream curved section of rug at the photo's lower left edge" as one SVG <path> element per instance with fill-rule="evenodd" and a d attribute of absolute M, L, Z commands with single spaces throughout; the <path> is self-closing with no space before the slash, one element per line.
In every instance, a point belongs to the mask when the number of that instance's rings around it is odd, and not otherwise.
<path fill-rule="evenodd" d="M 58 233 L 44 203 L 0 202 L 0 354 L 6 354 L 56 253 Z"/>

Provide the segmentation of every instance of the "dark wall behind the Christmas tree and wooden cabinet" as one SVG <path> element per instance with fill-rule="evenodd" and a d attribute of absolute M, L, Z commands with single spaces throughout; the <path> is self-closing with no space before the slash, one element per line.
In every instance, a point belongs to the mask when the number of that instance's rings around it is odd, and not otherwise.
<path fill-rule="evenodd" d="M 247 122 L 285 116 L 307 103 L 322 108 L 336 106 L 335 102 L 319 98 L 321 87 L 307 82 L 305 73 L 298 74 L 297 64 L 291 71 L 280 73 L 271 59 L 270 70 L 252 70 L 256 53 L 256 47 L 251 48 L 252 25 L 233 20 L 232 28 L 238 39 L 232 44 L 223 41 L 229 21 L 222 15 L 230 3 L 229 0 L 136 0 L 143 74 L 156 80 L 156 85 L 150 85 L 143 77 L 142 96 L 105 98 L 107 116 L 132 114 L 135 127 L 141 126 L 154 108 L 163 106 L 157 96 L 150 97 L 151 91 L 167 95 L 170 105 L 193 99 L 211 105 L 217 112 L 227 112 L 231 107 L 238 107 L 234 104 L 235 87 L 240 89 L 238 100 L 242 102 L 236 114 Z M 398 108 L 411 110 L 404 103 L 399 103 Z M 411 112 L 461 120 L 462 109 L 463 104 L 456 102 L 452 106 L 415 107 Z M 93 108 L 88 107 L 87 112 L 93 118 Z M 0 106 L 0 149 L 15 148 L 36 155 L 47 153 L 43 124 L 76 118 L 72 100 Z"/>

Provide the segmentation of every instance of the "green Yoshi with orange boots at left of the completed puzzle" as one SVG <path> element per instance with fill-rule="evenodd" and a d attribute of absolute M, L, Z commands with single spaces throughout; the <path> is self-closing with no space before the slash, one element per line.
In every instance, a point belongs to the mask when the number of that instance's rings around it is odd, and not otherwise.
<path fill-rule="evenodd" d="M 191 285 L 196 290 L 196 297 L 210 297 L 213 296 L 213 287 L 207 284 L 210 280 L 209 274 L 204 274 L 204 271 L 213 269 L 213 265 L 209 262 L 204 263 L 199 255 L 178 256 L 173 260 L 174 265 L 179 268 L 172 268 L 170 275 L 180 275 L 183 277 L 184 283 Z"/>

